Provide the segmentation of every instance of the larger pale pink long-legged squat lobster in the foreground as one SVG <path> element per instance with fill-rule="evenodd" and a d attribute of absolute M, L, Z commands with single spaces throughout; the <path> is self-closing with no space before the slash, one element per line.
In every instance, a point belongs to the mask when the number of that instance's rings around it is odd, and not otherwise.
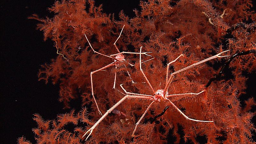
<path fill-rule="evenodd" d="M 212 57 L 209 57 L 207 59 L 204 59 L 202 61 L 199 61 L 199 62 L 196 62 L 186 68 L 182 68 L 178 71 L 175 71 L 173 72 L 170 76 L 168 76 L 169 74 L 169 66 L 170 64 L 172 64 L 173 62 L 175 62 L 176 60 L 178 60 L 181 56 L 183 56 L 182 54 L 176 58 L 175 60 L 171 61 L 170 63 L 167 64 L 167 69 L 166 69 L 166 83 L 165 83 L 165 87 L 164 87 L 164 90 L 163 89 L 158 89 L 158 90 L 154 90 L 153 87 L 151 86 L 151 84 L 149 83 L 148 81 L 148 78 L 146 77 L 146 75 L 144 74 L 142 68 L 141 68 L 141 48 L 140 47 L 140 71 L 142 73 L 142 75 L 144 76 L 146 82 L 148 83 L 150 89 L 152 90 L 152 92 L 154 93 L 154 96 L 153 95 L 146 95 L 146 94 L 139 94 L 139 93 L 132 93 L 132 92 L 127 92 L 124 88 L 123 88 L 123 84 L 120 84 L 121 88 L 124 90 L 125 92 L 125 96 L 119 100 L 113 107 L 111 107 L 109 110 L 107 110 L 107 112 L 87 131 L 85 132 L 85 134 L 83 135 L 83 137 L 88 133 L 89 135 L 87 136 L 86 140 L 88 139 L 88 137 L 92 134 L 92 131 L 95 129 L 95 127 L 109 114 L 111 113 L 118 105 L 120 105 L 125 99 L 140 99 L 140 100 L 150 100 L 152 101 L 148 108 L 145 110 L 145 112 L 143 113 L 143 115 L 140 117 L 139 121 L 136 123 L 135 125 L 135 128 L 134 128 L 134 131 L 132 132 L 132 136 L 134 136 L 134 133 L 137 129 L 137 126 L 138 124 L 140 123 L 140 121 L 142 120 L 142 118 L 146 115 L 146 113 L 148 112 L 148 109 L 151 107 L 151 105 L 154 103 L 154 102 L 162 102 L 162 101 L 167 101 L 167 102 L 170 102 L 170 104 L 182 115 L 184 116 L 187 120 L 191 120 L 191 121 L 195 121 L 195 122 L 213 122 L 213 121 L 204 121 L 204 120 L 196 120 L 196 119 L 192 119 L 192 118 L 189 118 L 188 116 L 186 116 L 177 106 L 174 105 L 174 103 L 172 103 L 171 100 L 169 100 L 168 98 L 170 97 L 173 97 L 173 96 L 184 96 L 184 95 L 199 95 L 200 93 L 204 92 L 201 91 L 201 92 L 198 92 L 198 93 L 180 93 L 180 94 L 168 94 L 168 88 L 172 82 L 172 79 L 174 77 L 174 75 L 182 72 L 182 71 L 186 71 L 190 68 L 193 68 L 197 65 L 200 65 L 202 63 L 205 63 L 206 61 L 209 61 L 209 60 L 212 60 L 212 59 L 215 59 L 215 58 L 223 58 L 223 57 L 229 57 L 229 55 L 225 55 L 225 56 L 220 56 L 221 54 L 225 53 L 225 52 L 228 52 L 229 50 L 227 51 L 224 51 L 224 52 L 220 52 Z"/>

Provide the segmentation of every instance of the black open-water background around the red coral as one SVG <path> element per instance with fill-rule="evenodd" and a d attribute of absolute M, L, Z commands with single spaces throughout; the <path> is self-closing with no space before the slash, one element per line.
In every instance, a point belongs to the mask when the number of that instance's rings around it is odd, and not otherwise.
<path fill-rule="evenodd" d="M 1 144 L 17 143 L 21 136 L 36 143 L 32 132 L 32 128 L 37 126 L 32 119 L 34 113 L 44 119 L 53 119 L 57 114 L 69 112 L 63 110 L 63 104 L 58 101 L 58 85 L 38 82 L 40 65 L 57 56 L 56 48 L 51 40 L 43 40 L 43 32 L 36 30 L 38 22 L 27 19 L 35 13 L 39 17 L 53 17 L 54 14 L 47 10 L 53 3 L 53 0 L 0 2 Z M 139 1 L 102 0 L 96 2 L 99 4 L 103 4 L 104 12 L 116 13 L 116 17 L 121 10 L 128 16 L 134 16 L 132 10 L 140 9 Z M 255 97 L 256 76 L 247 76 L 250 78 L 244 98 Z"/>

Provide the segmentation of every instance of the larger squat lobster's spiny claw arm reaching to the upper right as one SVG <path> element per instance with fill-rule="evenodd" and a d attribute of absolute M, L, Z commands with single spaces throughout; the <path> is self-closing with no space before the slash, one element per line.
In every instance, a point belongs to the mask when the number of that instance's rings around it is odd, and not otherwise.
<path fill-rule="evenodd" d="M 175 74 L 178 74 L 178 73 L 180 73 L 180 72 L 182 72 L 182 71 L 188 70 L 189 68 L 193 68 L 193 67 L 195 67 L 195 66 L 197 66 L 197 65 L 200 65 L 200 64 L 202 64 L 202 63 L 204 63 L 204 62 L 206 62 L 206 61 L 209 61 L 209 60 L 212 60 L 212 59 L 215 59 L 215 58 L 229 57 L 229 55 L 220 56 L 221 54 L 223 54 L 223 53 L 225 53 L 225 52 L 228 52 L 228 51 L 230 51 L 230 50 L 227 50 L 227 51 L 224 51 L 224 52 L 220 52 L 220 53 L 218 53 L 218 54 L 216 54 L 216 55 L 214 55 L 214 56 L 212 56 L 212 57 L 210 57 L 210 58 L 207 58 L 207 59 L 198 61 L 198 62 L 196 62 L 196 63 L 194 63 L 194 64 L 192 64 L 192 65 L 190 65 L 190 66 L 188 66 L 188 67 L 186 67 L 186 68 L 182 68 L 182 69 L 180 69 L 180 70 L 178 70 L 178 71 L 176 71 L 176 72 L 173 72 L 173 73 L 171 74 L 171 76 L 174 76 Z M 167 84 L 165 85 L 164 92 L 166 92 L 166 90 L 167 90 L 167 85 L 169 85 L 169 83 L 170 83 L 170 81 L 171 81 L 171 78 L 172 78 L 172 77 L 169 78 Z"/>

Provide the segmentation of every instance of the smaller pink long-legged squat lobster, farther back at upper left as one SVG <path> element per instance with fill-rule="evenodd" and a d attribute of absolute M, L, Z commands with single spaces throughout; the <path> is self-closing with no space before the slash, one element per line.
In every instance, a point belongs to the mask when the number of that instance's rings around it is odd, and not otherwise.
<path fill-rule="evenodd" d="M 124 25 L 124 26 L 125 26 L 125 25 Z M 121 30 L 121 32 L 120 32 L 120 35 L 119 35 L 118 38 L 116 39 L 116 42 L 117 42 L 117 40 L 120 38 L 120 36 L 121 36 L 121 34 L 122 34 L 122 32 L 123 32 L 124 26 L 123 26 L 123 28 L 122 28 L 122 30 Z M 92 48 L 92 45 L 90 44 L 90 42 L 89 42 L 87 36 L 86 36 L 85 34 L 84 34 L 84 36 L 85 36 L 86 40 L 88 41 L 90 47 Z M 93 97 L 93 100 L 94 100 L 94 102 L 95 102 L 95 104 L 96 104 L 96 107 L 97 107 L 97 109 L 98 109 L 98 112 L 99 112 L 99 114 L 100 114 L 101 116 L 102 116 L 102 114 L 101 114 L 100 109 L 99 109 L 99 107 L 98 107 L 97 101 L 96 101 L 96 99 L 95 99 L 95 97 L 94 97 L 92 75 L 93 75 L 94 73 L 96 73 L 96 72 L 99 72 L 99 71 L 101 71 L 101 70 L 104 70 L 104 69 L 109 68 L 109 67 L 112 67 L 112 66 L 116 66 L 116 68 L 117 68 L 117 67 L 119 66 L 119 63 L 120 63 L 120 62 L 126 61 L 125 58 L 124 58 L 124 55 L 123 55 L 124 53 L 128 53 L 128 54 L 140 54 L 140 52 L 120 52 L 120 51 L 118 50 L 117 46 L 116 46 L 116 42 L 114 43 L 114 45 L 115 45 L 116 50 L 117 50 L 118 53 L 112 54 L 112 55 L 110 55 L 110 56 L 105 55 L 105 54 L 102 54 L 102 53 L 100 53 L 100 52 L 96 52 L 96 51 L 94 51 L 94 49 L 92 48 L 92 51 L 93 51 L 93 52 L 98 53 L 98 54 L 100 54 L 100 55 L 103 55 L 103 56 L 105 56 L 105 57 L 111 58 L 111 59 L 113 59 L 113 61 L 114 61 L 114 62 L 112 62 L 112 63 L 106 65 L 105 67 L 102 67 L 102 68 L 100 68 L 100 69 L 97 69 L 97 70 L 91 72 L 92 97 Z M 151 53 L 151 52 L 142 52 L 141 54 L 148 55 L 147 53 Z M 151 55 L 148 55 L 148 56 L 151 56 Z M 151 59 L 150 59 L 150 60 L 151 60 Z M 129 63 L 129 65 L 133 66 L 133 65 L 130 64 L 130 63 Z M 125 68 L 126 68 L 126 66 L 125 66 Z M 130 78 L 131 78 L 131 75 L 129 74 L 128 71 L 127 71 L 127 74 L 128 74 L 128 76 L 130 76 Z M 132 81 L 132 82 L 133 82 L 133 81 Z M 115 72 L 115 80 L 114 80 L 113 89 L 115 89 L 115 88 L 116 88 L 116 72 Z"/>

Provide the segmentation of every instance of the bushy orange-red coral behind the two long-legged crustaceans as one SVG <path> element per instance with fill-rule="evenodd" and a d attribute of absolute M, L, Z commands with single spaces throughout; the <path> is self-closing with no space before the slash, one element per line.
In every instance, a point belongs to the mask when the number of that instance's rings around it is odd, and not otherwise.
<path fill-rule="evenodd" d="M 95 7 L 92 0 L 63 0 L 55 2 L 50 8 L 50 11 L 55 12 L 54 18 L 40 19 L 36 15 L 31 17 L 42 22 L 38 24 L 38 28 L 44 31 L 44 39 L 51 38 L 60 54 L 51 64 L 42 66 L 39 80 L 44 79 L 47 83 L 51 79 L 53 84 L 60 85 L 60 101 L 64 102 L 66 108 L 70 108 L 70 100 L 78 97 L 82 97 L 82 105 L 90 107 L 90 120 L 84 118 L 84 112 L 74 115 L 74 111 L 71 111 L 70 114 L 59 116 L 57 122 L 52 121 L 52 127 L 49 126 L 49 121 L 35 115 L 38 128 L 33 131 L 38 142 L 54 143 L 57 140 L 81 143 L 84 132 L 93 125 L 92 122 L 100 118 L 91 97 L 90 72 L 112 61 L 92 53 L 84 34 L 92 42 L 95 51 L 106 55 L 115 54 L 113 44 L 125 24 L 124 32 L 116 43 L 117 47 L 122 51 L 139 52 L 140 46 L 143 46 L 145 51 L 152 52 L 155 59 L 143 63 L 142 67 L 155 88 L 164 86 L 166 64 L 180 54 L 184 57 L 173 63 L 170 68 L 172 72 L 224 50 L 232 50 L 230 55 L 255 50 L 255 23 L 233 26 L 255 18 L 251 2 L 180 0 L 175 5 L 170 5 L 169 1 L 149 0 L 141 1 L 140 7 L 141 10 L 134 10 L 134 18 L 129 18 L 122 11 L 119 14 L 120 20 L 116 21 L 113 16 L 103 13 L 101 6 Z M 140 73 L 138 56 L 128 55 L 127 58 L 136 63 L 134 67 L 106 69 L 93 75 L 95 97 L 102 112 L 123 97 L 120 87 L 112 89 L 115 72 L 120 73 L 116 77 L 117 86 L 124 84 L 129 92 L 152 94 Z M 210 118 L 214 123 L 189 121 L 169 108 L 157 122 L 150 124 L 148 121 L 161 113 L 168 104 L 154 105 L 139 125 L 136 136 L 132 138 L 135 123 L 148 103 L 127 100 L 118 107 L 125 113 L 125 119 L 108 116 L 92 132 L 87 142 L 166 143 L 168 137 L 173 135 L 176 143 L 181 140 L 198 143 L 196 137 L 201 136 L 208 143 L 252 143 L 251 131 L 255 128 L 251 119 L 255 113 L 249 110 L 255 102 L 249 99 L 246 107 L 241 108 L 238 98 L 246 89 L 246 78 L 241 75 L 242 70 L 255 72 L 255 55 L 236 58 L 230 64 L 232 78 L 215 81 L 205 88 L 207 81 L 217 74 L 213 66 L 220 66 L 220 60 L 212 60 L 178 74 L 168 92 L 176 94 L 204 90 L 200 96 L 174 97 L 171 101 L 187 116 L 196 119 Z M 136 83 L 131 83 L 125 71 L 129 71 Z M 67 123 L 76 125 L 79 118 L 84 122 L 83 128 L 77 127 L 74 132 L 63 128 Z M 180 127 L 184 135 L 179 132 Z M 19 143 L 29 142 L 20 138 Z"/>

